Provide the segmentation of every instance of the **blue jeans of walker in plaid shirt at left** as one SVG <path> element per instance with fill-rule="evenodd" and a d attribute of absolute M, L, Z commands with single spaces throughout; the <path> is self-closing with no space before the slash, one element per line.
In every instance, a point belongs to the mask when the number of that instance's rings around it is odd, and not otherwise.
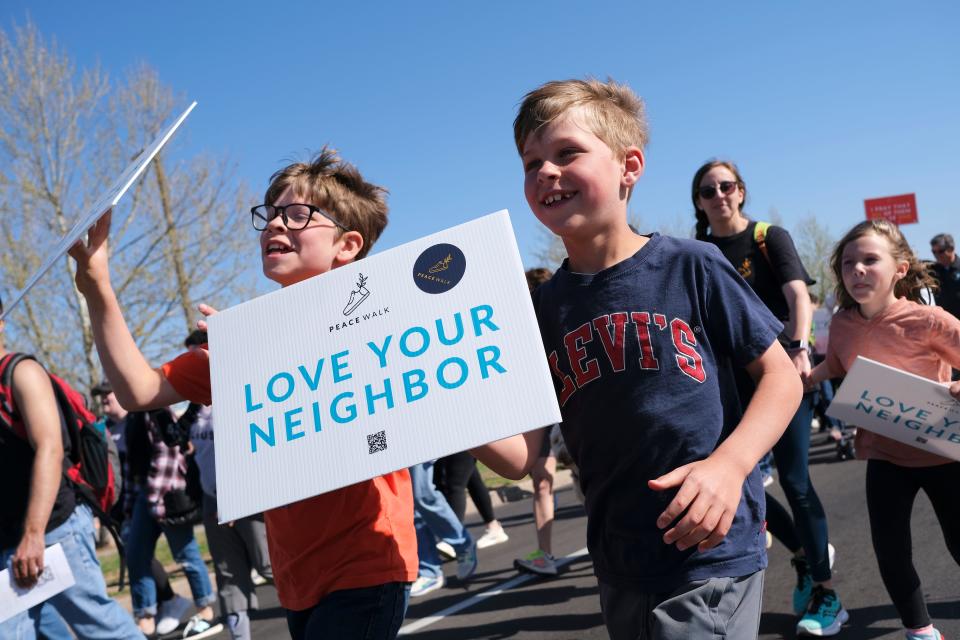
<path fill-rule="evenodd" d="M 138 488 L 133 514 L 127 529 L 127 565 L 130 570 L 130 595 L 136 618 L 157 615 L 157 583 L 153 581 L 150 563 L 160 534 L 167 538 L 174 559 L 183 567 L 198 609 L 217 599 L 210 585 L 207 567 L 200 557 L 200 547 L 193 537 L 192 525 L 164 526 L 154 520 L 145 489 Z"/>

